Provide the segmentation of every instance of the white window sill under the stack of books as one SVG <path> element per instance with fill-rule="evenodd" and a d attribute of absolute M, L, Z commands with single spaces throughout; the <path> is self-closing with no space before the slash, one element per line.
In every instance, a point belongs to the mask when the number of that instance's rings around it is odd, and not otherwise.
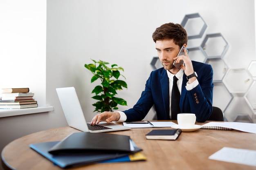
<path fill-rule="evenodd" d="M 0 117 L 28 115 L 33 113 L 43 113 L 53 111 L 53 106 L 41 106 L 36 108 L 21 108 L 21 109 L 0 109 Z"/>

